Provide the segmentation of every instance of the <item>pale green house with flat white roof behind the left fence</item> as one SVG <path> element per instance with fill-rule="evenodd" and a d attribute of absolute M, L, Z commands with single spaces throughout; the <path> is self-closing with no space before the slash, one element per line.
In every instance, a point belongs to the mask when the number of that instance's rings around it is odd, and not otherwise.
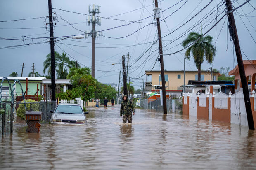
<path fill-rule="evenodd" d="M 4 77 L 0 77 L 2 82 Z M 7 77 L 9 79 L 11 88 L 15 80 L 19 80 L 21 86 L 18 82 L 14 85 L 14 96 L 21 96 L 22 91 L 25 93 L 26 98 L 34 98 L 38 95 L 42 95 L 45 99 L 50 99 L 51 97 L 51 79 L 46 79 L 45 77 Z M 56 79 L 56 93 L 60 92 L 60 86 L 63 86 L 63 91 L 65 92 L 68 85 L 71 85 L 70 79 Z M 26 88 L 27 87 L 27 88 Z M 27 90 L 26 90 L 27 89 Z M 9 88 L 9 83 L 4 80 L 1 88 L 2 99 L 11 98 L 11 91 Z"/>

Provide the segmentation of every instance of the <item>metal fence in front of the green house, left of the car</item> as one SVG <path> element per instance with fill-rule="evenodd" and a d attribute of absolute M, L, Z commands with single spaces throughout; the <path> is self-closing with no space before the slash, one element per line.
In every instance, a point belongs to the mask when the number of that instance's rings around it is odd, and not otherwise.
<path fill-rule="evenodd" d="M 50 122 L 52 113 L 50 110 L 54 110 L 56 107 L 55 102 L 2 102 L 0 104 L 0 132 L 3 134 L 5 133 L 12 133 L 13 130 L 13 123 L 17 122 L 17 114 L 19 114 L 23 109 L 23 112 L 26 110 L 31 111 L 41 111 L 42 112 L 42 121 L 40 123 L 48 123 Z M 13 109 L 12 109 L 13 108 Z M 13 112 L 12 112 L 13 110 Z M 18 118 L 19 119 L 19 118 Z"/>

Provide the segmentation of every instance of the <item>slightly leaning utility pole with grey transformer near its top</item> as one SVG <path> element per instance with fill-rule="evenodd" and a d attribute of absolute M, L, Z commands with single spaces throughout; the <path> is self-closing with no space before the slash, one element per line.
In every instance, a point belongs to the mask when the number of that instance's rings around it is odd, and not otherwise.
<path fill-rule="evenodd" d="M 162 78 L 162 92 L 163 92 L 163 112 L 167 114 L 166 108 L 166 91 L 165 91 L 165 79 L 164 79 L 164 58 L 163 58 L 163 49 L 162 49 L 162 38 L 161 38 L 161 29 L 160 29 L 160 8 L 158 7 L 158 2 L 155 0 L 154 8 L 154 18 L 157 22 L 157 32 L 158 32 L 158 42 L 159 42 L 159 54 L 160 54 L 160 65 L 161 65 L 161 78 Z"/>

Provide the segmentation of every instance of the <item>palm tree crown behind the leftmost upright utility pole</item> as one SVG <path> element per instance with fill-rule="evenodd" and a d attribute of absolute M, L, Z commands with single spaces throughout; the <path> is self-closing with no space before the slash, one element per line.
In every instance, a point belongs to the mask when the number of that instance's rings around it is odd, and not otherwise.
<path fill-rule="evenodd" d="M 48 69 L 47 74 L 51 75 L 51 54 L 49 53 L 46 56 L 46 60 L 43 62 L 43 73 Z M 57 77 L 59 79 L 66 79 L 68 75 L 68 69 L 76 67 L 76 61 L 69 60 L 69 57 L 66 56 L 66 53 L 59 54 L 55 51 L 55 70 Z M 77 67 L 80 68 L 80 65 L 77 64 Z"/>

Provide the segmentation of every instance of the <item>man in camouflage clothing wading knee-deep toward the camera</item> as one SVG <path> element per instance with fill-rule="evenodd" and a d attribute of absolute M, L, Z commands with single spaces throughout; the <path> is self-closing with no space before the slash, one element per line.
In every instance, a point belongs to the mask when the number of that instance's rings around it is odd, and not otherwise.
<path fill-rule="evenodd" d="M 134 107 L 133 103 L 127 99 L 127 95 L 123 96 L 123 101 L 121 102 L 120 107 L 120 117 L 123 115 L 123 123 L 126 123 L 128 120 L 128 123 L 132 123 L 133 116 L 132 111 L 134 115 Z"/>

